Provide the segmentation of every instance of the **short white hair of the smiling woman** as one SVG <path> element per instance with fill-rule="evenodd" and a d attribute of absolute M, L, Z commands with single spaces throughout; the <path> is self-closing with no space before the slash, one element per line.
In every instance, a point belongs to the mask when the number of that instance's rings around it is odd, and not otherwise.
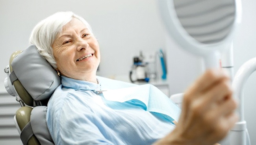
<path fill-rule="evenodd" d="M 48 16 L 39 22 L 32 30 L 30 35 L 30 44 L 37 47 L 41 56 L 43 56 L 54 69 L 57 68 L 56 60 L 53 55 L 52 44 L 56 36 L 61 33 L 64 25 L 69 23 L 72 18 L 80 20 L 91 33 L 93 33 L 91 26 L 84 18 L 74 14 L 73 12 L 57 12 Z"/>

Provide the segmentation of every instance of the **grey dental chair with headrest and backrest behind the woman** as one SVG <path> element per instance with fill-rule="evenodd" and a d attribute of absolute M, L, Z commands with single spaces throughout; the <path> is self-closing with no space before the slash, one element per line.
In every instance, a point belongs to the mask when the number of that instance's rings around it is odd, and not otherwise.
<path fill-rule="evenodd" d="M 60 77 L 31 45 L 11 55 L 5 87 L 21 107 L 14 116 L 24 145 L 54 145 L 46 125 L 47 102 L 60 85 Z"/>

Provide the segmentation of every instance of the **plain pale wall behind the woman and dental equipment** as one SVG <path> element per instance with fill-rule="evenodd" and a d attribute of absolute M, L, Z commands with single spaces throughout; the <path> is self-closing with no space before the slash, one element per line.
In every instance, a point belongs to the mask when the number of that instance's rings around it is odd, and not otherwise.
<path fill-rule="evenodd" d="M 234 42 L 235 71 L 256 56 L 256 1 L 243 0 L 242 4 L 243 20 Z M 0 0 L 0 91 L 4 91 L 3 69 L 11 53 L 28 47 L 32 28 L 57 11 L 74 11 L 91 24 L 102 54 L 98 75 L 128 77 L 132 57 L 139 50 L 151 53 L 165 47 L 170 48 L 167 60 L 172 94 L 184 91 L 201 72 L 200 58 L 179 49 L 166 37 L 155 0 Z M 252 145 L 256 144 L 252 112 L 256 110 L 255 80 L 256 73 L 245 86 L 245 119 Z"/>

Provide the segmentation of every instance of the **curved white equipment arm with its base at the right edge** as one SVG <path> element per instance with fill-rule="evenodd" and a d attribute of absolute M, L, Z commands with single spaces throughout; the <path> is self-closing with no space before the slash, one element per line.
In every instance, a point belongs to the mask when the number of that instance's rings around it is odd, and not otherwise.
<path fill-rule="evenodd" d="M 250 145 L 249 134 L 247 132 L 246 121 L 244 117 L 244 85 L 249 76 L 256 71 L 256 58 L 245 62 L 236 72 L 232 87 L 234 89 L 234 98 L 239 102 L 237 112 L 240 116 L 239 121 L 230 131 L 230 145 Z"/>

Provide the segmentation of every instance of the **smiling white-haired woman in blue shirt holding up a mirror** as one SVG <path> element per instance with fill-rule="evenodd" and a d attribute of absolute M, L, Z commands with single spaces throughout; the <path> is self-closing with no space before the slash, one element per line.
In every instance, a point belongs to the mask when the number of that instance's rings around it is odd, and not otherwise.
<path fill-rule="evenodd" d="M 206 71 L 189 87 L 176 125 L 133 101 L 111 101 L 96 93 L 113 83 L 119 87 L 111 89 L 134 85 L 96 76 L 99 44 L 90 25 L 72 12 L 39 22 L 30 42 L 61 76 L 47 111 L 55 144 L 213 145 L 237 120 L 229 78 L 221 70 Z"/>

